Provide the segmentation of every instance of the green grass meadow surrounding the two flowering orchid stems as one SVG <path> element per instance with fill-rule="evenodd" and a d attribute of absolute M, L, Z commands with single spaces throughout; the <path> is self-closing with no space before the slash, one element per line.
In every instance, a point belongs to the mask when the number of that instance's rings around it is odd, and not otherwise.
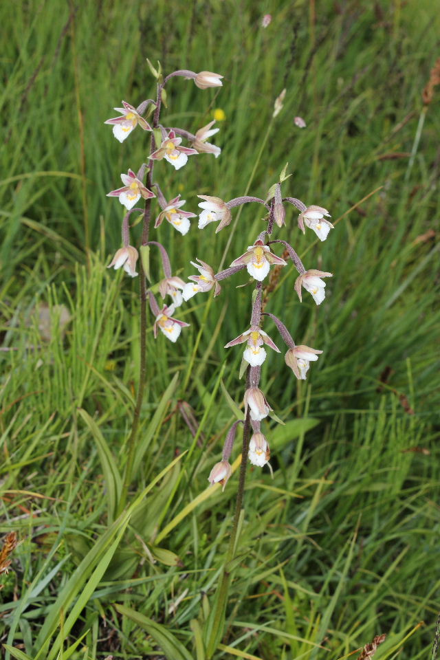
<path fill-rule="evenodd" d="M 197 194 L 231 199 L 249 187 L 264 197 L 289 162 L 285 195 L 337 221 L 317 244 L 292 208 L 278 234 L 333 278 L 320 307 L 309 296 L 300 305 L 289 266 L 267 311 L 324 353 L 307 382 L 283 355 L 263 367 L 286 426 L 264 425 L 274 481 L 267 469 L 248 474 L 214 657 L 336 659 L 380 632 L 388 638 L 375 660 L 429 657 L 440 609 L 440 89 L 426 109 L 421 91 L 440 56 L 434 3 L 23 0 L 4 3 L 0 17 L 0 531 L 20 540 L 1 576 L 5 658 L 205 657 L 199 630 L 236 477 L 223 494 L 206 492 L 206 480 L 234 420 L 224 392 L 239 406 L 243 397 L 241 351 L 223 345 L 248 327 L 250 288 L 235 288 L 247 281 L 240 273 L 215 301 L 192 298 L 176 345 L 148 331 L 131 517 L 115 520 L 139 307 L 137 281 L 105 268 L 122 219 L 105 195 L 146 159 L 148 137 L 137 129 L 120 145 L 103 122 L 122 99 L 154 95 L 147 57 L 166 73 L 225 76 L 219 90 L 168 85 L 165 125 L 195 131 L 215 108 L 226 117 L 213 140 L 221 157 L 192 157 L 178 172 L 159 162 L 168 199 L 181 192 L 196 210 Z M 261 229 L 248 205 L 226 265 Z M 219 266 L 231 231 L 193 222 L 182 237 L 164 223 L 152 238 L 186 278 L 195 256 Z M 157 281 L 154 254 L 152 272 Z M 42 303 L 52 310 L 47 340 Z M 65 334 L 58 305 L 72 316 Z M 272 323 L 265 329 L 276 338 Z"/>

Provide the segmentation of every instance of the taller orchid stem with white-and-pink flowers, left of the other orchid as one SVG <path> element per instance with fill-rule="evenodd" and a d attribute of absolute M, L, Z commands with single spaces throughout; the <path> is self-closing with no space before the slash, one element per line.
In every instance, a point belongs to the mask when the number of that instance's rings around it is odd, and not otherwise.
<path fill-rule="evenodd" d="M 123 267 L 124 271 L 131 277 L 137 276 L 136 266 L 139 263 L 140 275 L 140 381 L 137 390 L 137 398 L 133 415 L 133 424 L 129 437 L 129 452 L 124 473 L 124 484 L 122 487 L 122 496 L 120 499 L 120 510 L 126 503 L 128 489 L 131 483 L 133 470 L 133 461 L 135 455 L 135 445 L 137 439 L 137 430 L 139 427 L 140 410 L 144 396 L 144 384 L 146 380 L 146 301 L 150 305 L 155 322 L 153 325 L 153 335 L 155 338 L 160 334 L 164 335 L 171 342 L 176 342 L 180 336 L 182 328 L 188 327 L 188 323 L 174 318 L 175 310 L 184 300 L 188 300 L 192 295 L 199 291 L 208 291 L 212 286 L 219 292 L 219 285 L 214 280 L 214 272 L 210 267 L 200 261 L 200 265 L 194 264 L 199 270 L 200 275 L 192 277 L 194 283 L 186 284 L 181 278 L 173 276 L 170 260 L 166 248 L 162 243 L 150 240 L 151 219 L 152 219 L 152 201 L 159 204 L 160 211 L 154 222 L 154 228 L 166 220 L 179 234 L 184 236 L 190 230 L 190 218 L 196 217 L 195 213 L 185 211 L 182 206 L 186 203 L 180 199 L 180 195 L 168 198 L 164 194 L 155 177 L 155 164 L 157 161 L 164 160 L 173 166 L 176 170 L 184 167 L 188 162 L 188 157 L 202 153 L 211 153 L 218 157 L 221 149 L 207 140 L 212 137 L 219 129 L 214 129 L 214 122 L 209 122 L 202 126 L 195 134 L 184 129 L 163 126 L 160 122 L 161 110 L 166 104 L 166 85 L 177 76 L 193 80 L 199 89 L 208 89 L 208 87 L 221 87 L 222 82 L 220 74 L 208 71 L 200 73 L 192 72 L 188 69 L 179 69 L 168 76 L 163 76 L 162 68 L 158 64 L 153 67 L 150 61 L 148 66 L 156 79 L 157 94 L 155 100 L 149 98 L 142 101 L 137 107 L 122 101 L 122 108 L 115 108 L 120 116 L 108 119 L 105 123 L 113 126 L 113 135 L 119 142 L 129 137 L 137 126 L 150 136 L 150 149 L 148 163 L 143 163 L 137 173 L 129 168 L 126 174 L 121 174 L 122 188 L 116 188 L 108 193 L 108 197 L 118 197 L 120 203 L 126 209 L 126 214 L 122 220 L 122 248 L 120 248 L 109 268 L 115 270 Z M 188 142 L 189 146 L 183 146 L 183 140 Z M 136 206 L 138 202 L 144 201 L 144 207 Z M 142 214 L 142 237 L 140 241 L 140 255 L 137 248 L 131 245 L 130 240 L 130 217 L 132 213 Z M 147 289 L 146 276 L 148 275 L 148 251 L 154 245 L 159 249 L 162 256 L 162 267 L 164 278 L 158 283 L 158 291 L 165 299 L 170 296 L 172 302 L 169 305 L 165 303 L 159 305 L 155 295 L 150 289 Z M 197 260 L 198 261 L 198 260 Z"/>

